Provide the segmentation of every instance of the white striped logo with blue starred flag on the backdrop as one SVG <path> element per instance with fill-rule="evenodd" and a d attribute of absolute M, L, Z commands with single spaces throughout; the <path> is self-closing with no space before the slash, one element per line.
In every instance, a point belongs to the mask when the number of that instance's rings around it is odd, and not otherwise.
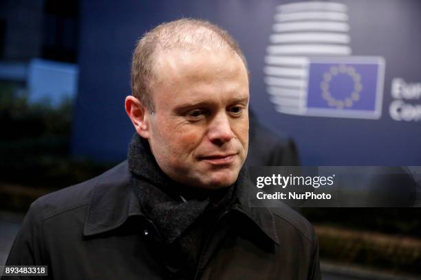
<path fill-rule="evenodd" d="M 347 6 L 298 2 L 277 7 L 265 84 L 280 113 L 379 119 L 385 60 L 350 56 Z"/>

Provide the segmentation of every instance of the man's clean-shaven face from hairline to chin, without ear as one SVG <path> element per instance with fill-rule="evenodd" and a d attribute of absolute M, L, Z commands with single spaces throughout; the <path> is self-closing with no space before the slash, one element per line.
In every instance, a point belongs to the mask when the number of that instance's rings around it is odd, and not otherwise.
<path fill-rule="evenodd" d="M 248 74 L 228 51 L 158 55 L 149 143 L 161 169 L 191 187 L 237 180 L 248 151 Z"/>

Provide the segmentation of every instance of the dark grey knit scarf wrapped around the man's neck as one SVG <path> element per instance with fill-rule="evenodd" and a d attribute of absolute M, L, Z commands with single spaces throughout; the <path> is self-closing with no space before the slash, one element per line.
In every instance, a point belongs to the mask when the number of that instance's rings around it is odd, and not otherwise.
<path fill-rule="evenodd" d="M 155 224 L 169 250 L 175 250 L 174 269 L 193 273 L 217 216 L 233 205 L 235 185 L 216 191 L 180 185 L 162 172 L 148 141 L 137 133 L 128 157 L 144 215 Z"/>

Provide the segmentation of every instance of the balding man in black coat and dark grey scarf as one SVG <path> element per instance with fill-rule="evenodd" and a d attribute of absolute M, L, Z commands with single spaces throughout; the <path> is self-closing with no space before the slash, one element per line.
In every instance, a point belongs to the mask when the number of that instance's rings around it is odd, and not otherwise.
<path fill-rule="evenodd" d="M 206 21 L 155 27 L 133 54 L 129 159 L 32 204 L 8 265 L 50 279 L 319 279 L 312 226 L 248 207 L 248 71 Z"/>

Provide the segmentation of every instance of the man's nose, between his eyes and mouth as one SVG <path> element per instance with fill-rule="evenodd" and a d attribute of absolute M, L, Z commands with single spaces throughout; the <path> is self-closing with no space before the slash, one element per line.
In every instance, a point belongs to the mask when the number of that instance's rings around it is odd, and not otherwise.
<path fill-rule="evenodd" d="M 217 114 L 210 122 L 208 137 L 215 145 L 223 145 L 235 137 L 231 130 L 230 119 L 225 112 Z"/>

